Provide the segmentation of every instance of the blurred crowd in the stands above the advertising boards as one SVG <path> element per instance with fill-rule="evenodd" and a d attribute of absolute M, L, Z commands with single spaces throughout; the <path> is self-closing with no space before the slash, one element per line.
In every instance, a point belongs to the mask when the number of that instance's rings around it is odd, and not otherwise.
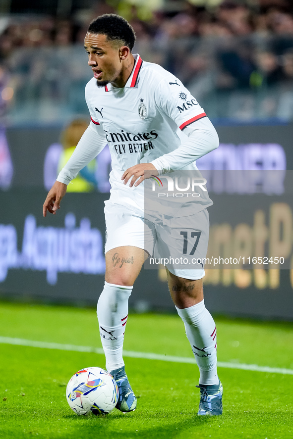
<path fill-rule="evenodd" d="M 84 35 L 92 18 L 113 12 L 132 24 L 134 52 L 174 73 L 211 117 L 293 119 L 293 1 L 193 3 L 166 0 L 146 10 L 101 0 L 70 18 L 1 18 L 0 114 L 12 122 L 23 113 L 48 121 L 85 114 Z"/>

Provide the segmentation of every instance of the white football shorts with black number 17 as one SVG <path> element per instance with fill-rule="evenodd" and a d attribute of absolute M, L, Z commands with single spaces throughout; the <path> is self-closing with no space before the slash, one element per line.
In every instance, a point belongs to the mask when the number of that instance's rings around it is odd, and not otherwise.
<path fill-rule="evenodd" d="M 145 268 L 168 270 L 184 279 L 204 277 L 204 261 L 209 238 L 207 209 L 185 217 L 156 213 L 144 218 L 132 207 L 105 201 L 105 253 L 124 245 L 139 247 L 150 257 Z"/>

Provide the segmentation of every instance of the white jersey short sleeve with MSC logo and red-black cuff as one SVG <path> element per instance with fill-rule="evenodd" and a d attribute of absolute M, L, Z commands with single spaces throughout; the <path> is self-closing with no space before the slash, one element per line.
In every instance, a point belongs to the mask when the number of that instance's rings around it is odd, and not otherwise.
<path fill-rule="evenodd" d="M 175 76 L 161 79 L 155 99 L 159 109 L 173 119 L 180 130 L 206 117 L 204 109 Z"/>

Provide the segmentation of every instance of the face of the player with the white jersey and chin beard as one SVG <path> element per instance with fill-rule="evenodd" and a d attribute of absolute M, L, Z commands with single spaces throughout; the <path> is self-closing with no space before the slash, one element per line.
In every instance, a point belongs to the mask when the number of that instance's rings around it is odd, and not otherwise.
<path fill-rule="evenodd" d="M 84 48 L 89 55 L 88 65 L 94 72 L 98 87 L 110 82 L 117 84 L 122 75 L 121 50 L 103 34 L 87 33 Z"/>

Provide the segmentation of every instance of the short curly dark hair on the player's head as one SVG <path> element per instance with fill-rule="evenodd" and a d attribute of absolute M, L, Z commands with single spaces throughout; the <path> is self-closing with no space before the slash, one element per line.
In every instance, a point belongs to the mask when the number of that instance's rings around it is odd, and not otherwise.
<path fill-rule="evenodd" d="M 104 14 L 95 18 L 89 24 L 88 32 L 106 35 L 111 41 L 121 41 L 129 47 L 130 51 L 135 43 L 135 33 L 132 26 L 116 14 Z"/>

